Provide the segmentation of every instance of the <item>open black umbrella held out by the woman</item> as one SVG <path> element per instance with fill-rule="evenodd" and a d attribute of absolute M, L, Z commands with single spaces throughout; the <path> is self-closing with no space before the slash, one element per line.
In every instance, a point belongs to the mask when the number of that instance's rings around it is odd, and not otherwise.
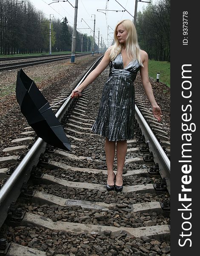
<path fill-rule="evenodd" d="M 63 126 L 52 111 L 49 102 L 22 69 L 17 73 L 16 97 L 21 112 L 38 137 L 54 147 L 71 151 Z"/>

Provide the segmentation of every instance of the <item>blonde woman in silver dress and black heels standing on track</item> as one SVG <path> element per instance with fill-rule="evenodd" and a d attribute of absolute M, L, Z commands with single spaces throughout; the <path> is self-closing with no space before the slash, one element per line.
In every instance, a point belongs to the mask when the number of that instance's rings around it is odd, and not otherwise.
<path fill-rule="evenodd" d="M 134 79 L 140 70 L 143 87 L 152 105 L 154 116 L 160 122 L 161 110 L 157 105 L 148 74 L 148 55 L 137 43 L 137 32 L 131 20 L 122 20 L 114 30 L 115 44 L 105 52 L 100 64 L 82 84 L 72 91 L 71 97 L 81 96 L 111 63 L 109 79 L 104 85 L 97 119 L 92 127 L 96 134 L 106 137 L 105 152 L 108 169 L 107 190 L 122 191 L 123 166 L 127 140 L 134 136 Z M 113 172 L 115 144 L 117 144 L 117 175 Z"/>

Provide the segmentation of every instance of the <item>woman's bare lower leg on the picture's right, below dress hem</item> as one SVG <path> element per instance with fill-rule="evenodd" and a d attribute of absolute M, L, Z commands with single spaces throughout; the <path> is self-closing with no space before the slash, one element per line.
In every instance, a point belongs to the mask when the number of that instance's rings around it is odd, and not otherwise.
<path fill-rule="evenodd" d="M 127 151 L 127 141 L 126 140 L 118 140 L 117 141 L 117 175 L 116 175 L 116 183 L 117 186 L 122 186 L 123 179 L 123 166 L 126 158 Z"/>

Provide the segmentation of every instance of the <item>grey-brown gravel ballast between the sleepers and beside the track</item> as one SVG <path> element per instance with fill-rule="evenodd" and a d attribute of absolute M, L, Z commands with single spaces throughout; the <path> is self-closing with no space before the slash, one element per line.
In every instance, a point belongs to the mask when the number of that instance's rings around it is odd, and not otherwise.
<path fill-rule="evenodd" d="M 52 64 L 39 65 L 34 67 L 27 67 L 23 70 L 31 79 L 37 80 L 36 84 L 42 91 L 46 99 L 51 102 L 56 96 L 58 96 L 61 90 L 67 88 L 69 84 L 75 80 L 80 73 L 83 73 L 100 55 L 84 56 L 76 59 L 75 64 L 71 64 L 70 61 L 54 62 Z M 0 87 L 11 88 L 11 83 L 14 83 L 17 78 L 17 70 L 11 70 L 9 72 L 2 73 L 3 77 L 0 78 Z M 89 104 L 86 106 L 86 119 L 95 119 L 97 116 L 98 106 L 101 99 L 101 92 L 103 84 L 106 82 L 109 75 L 109 67 L 103 71 L 103 73 L 91 84 L 92 93 L 88 96 Z M 154 95 L 157 103 L 160 105 L 163 118 L 161 123 L 164 125 L 165 131 L 169 134 L 170 132 L 170 89 L 165 84 L 156 83 L 153 79 L 150 79 Z M 144 96 L 143 86 L 139 74 L 135 80 L 135 92 L 137 97 L 143 99 L 143 103 L 151 111 L 146 95 Z M 11 102 L 11 100 L 13 102 Z M 83 97 L 84 99 L 84 97 Z M 78 105 L 78 101 L 77 101 Z M 0 113 L 1 113 L 1 130 L 0 130 L 0 142 L 1 150 L 0 157 L 10 156 L 12 152 L 3 152 L 2 150 L 6 147 L 16 146 L 12 140 L 24 137 L 20 134 L 22 130 L 28 126 L 26 119 L 20 112 L 19 105 L 15 98 L 15 93 L 12 90 L 8 96 L 0 98 Z M 62 122 L 62 121 L 61 121 Z M 70 122 L 70 120 L 69 120 Z M 92 122 L 88 122 L 88 124 Z M 91 128 L 91 125 L 88 125 Z M 62 163 L 63 165 L 69 165 L 81 168 L 91 168 L 106 170 L 106 159 L 104 151 L 104 137 L 92 134 L 91 131 L 86 131 L 88 134 L 77 134 L 75 132 L 67 130 L 66 125 L 65 132 L 67 135 L 71 135 L 85 141 L 77 141 L 69 139 L 71 145 L 76 146 L 69 154 L 76 157 L 85 157 L 84 160 L 77 160 L 73 156 L 65 157 L 62 154 L 51 154 L 45 153 L 49 157 L 49 160 L 54 162 Z M 76 131 L 82 131 L 82 129 L 74 128 Z M 23 130 L 24 131 L 24 130 Z M 35 135 L 33 135 L 35 137 Z M 137 135 L 135 136 L 137 140 Z M 35 138 L 33 139 L 33 141 Z M 26 143 L 29 145 L 29 143 Z M 140 147 L 140 143 L 135 142 L 133 147 Z M 129 145 L 130 147 L 130 145 Z M 21 151 L 23 155 L 26 150 Z M 138 153 L 127 153 L 127 159 L 134 157 L 141 157 L 143 153 L 138 150 Z M 114 170 L 116 171 L 116 159 L 114 161 Z M 17 166 L 17 163 L 15 164 Z M 14 166 L 14 164 L 5 164 L 3 167 Z M 154 166 L 154 162 L 143 162 L 142 163 L 128 163 L 125 165 L 125 173 L 132 170 L 149 169 Z M 45 175 L 52 175 L 57 180 L 78 183 L 93 183 L 95 187 L 93 189 L 86 189 L 73 187 L 68 185 L 60 185 L 60 183 L 43 183 L 43 180 L 30 181 L 30 185 L 36 191 L 46 193 L 48 195 L 54 195 L 63 199 L 71 200 L 82 200 L 105 203 L 110 205 L 107 209 L 85 209 L 81 206 L 59 206 L 56 203 L 42 203 L 38 205 L 33 203 L 31 199 L 29 201 L 19 199 L 17 201 L 17 207 L 22 208 L 26 214 L 34 214 L 36 218 L 49 218 L 53 223 L 58 224 L 60 222 L 70 222 L 75 224 L 86 224 L 86 225 L 103 225 L 119 227 L 120 233 L 114 233 L 110 230 L 106 230 L 103 233 L 73 233 L 66 231 L 50 230 L 51 228 L 35 227 L 31 224 L 27 224 L 24 227 L 24 223 L 20 226 L 23 227 L 9 227 L 6 225 L 0 230 L 0 238 L 6 238 L 9 242 L 30 247 L 33 249 L 41 250 L 55 255 L 56 253 L 62 253 L 68 256 L 170 256 L 169 241 L 162 239 L 151 239 L 151 237 L 143 236 L 136 238 L 129 236 L 123 231 L 123 227 L 129 228 L 145 228 L 151 226 L 169 225 L 169 215 L 160 215 L 156 212 L 134 212 L 133 205 L 148 204 L 151 202 L 163 203 L 165 200 L 169 200 L 169 194 L 167 192 L 154 193 L 154 189 L 151 192 L 116 192 L 111 191 L 100 191 L 97 189 L 97 185 L 104 186 L 106 184 L 105 173 L 89 173 L 74 171 L 69 169 L 63 170 L 59 168 L 49 168 L 47 166 L 38 165 L 37 169 L 40 169 Z M 124 176 L 123 184 L 127 186 L 153 186 L 153 183 L 160 181 L 160 177 L 150 176 Z M 3 181 L 2 181 L 3 182 Z M 66 184 L 66 183 L 65 183 Z M 115 204 L 115 206 L 113 206 Z M 61 223 L 62 224 L 62 223 Z M 75 231 L 74 231 L 75 232 Z M 80 230 L 79 230 L 80 232 Z M 155 237 L 154 237 L 155 238 Z"/>

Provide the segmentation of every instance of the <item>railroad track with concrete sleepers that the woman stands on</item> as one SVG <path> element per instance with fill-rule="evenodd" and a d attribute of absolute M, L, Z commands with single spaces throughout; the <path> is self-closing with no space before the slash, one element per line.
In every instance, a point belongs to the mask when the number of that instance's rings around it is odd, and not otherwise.
<path fill-rule="evenodd" d="M 68 96 L 82 79 L 51 104 Z M 91 84 L 82 98 L 54 108 L 71 141 L 71 153 L 36 139 L 28 126 L 16 140 L 17 148 L 4 149 L 15 153 L 2 157 L 1 163 L 20 161 L 0 189 L 0 225 L 6 220 L 0 248 L 8 250 L 5 255 L 169 256 L 170 163 L 162 148 L 169 145 L 152 134 L 136 97 L 135 139 L 128 141 L 124 189 L 107 192 L 104 139 L 91 133 L 98 90 Z M 156 136 L 164 136 L 148 111 L 145 118 L 157 129 Z M 32 140 L 21 159 L 20 150 Z"/>

